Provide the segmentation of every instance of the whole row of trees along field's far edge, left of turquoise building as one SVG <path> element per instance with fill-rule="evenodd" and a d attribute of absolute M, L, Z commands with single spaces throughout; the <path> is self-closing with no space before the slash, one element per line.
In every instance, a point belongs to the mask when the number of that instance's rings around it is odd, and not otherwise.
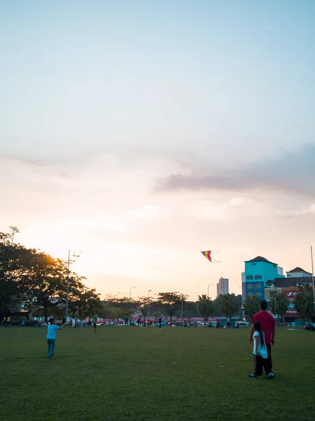
<path fill-rule="evenodd" d="M 119 319 L 135 312 L 146 318 L 165 316 L 240 316 L 241 295 L 227 294 L 215 300 L 200 295 L 196 302 L 178 292 L 161 292 L 154 299 L 117 298 L 101 300 L 94 288 L 84 285 L 86 278 L 69 271 L 67 261 L 52 258 L 35 248 L 13 242 L 18 232 L 0 232 L 0 320 L 12 312 L 26 309 L 32 316 L 65 316 L 67 276 L 69 275 L 68 314 L 84 319 L 94 312 L 104 319 Z"/>

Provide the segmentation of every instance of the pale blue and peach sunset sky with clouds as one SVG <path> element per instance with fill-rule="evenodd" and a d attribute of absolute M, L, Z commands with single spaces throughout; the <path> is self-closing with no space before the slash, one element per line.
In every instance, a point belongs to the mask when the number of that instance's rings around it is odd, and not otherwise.
<path fill-rule="evenodd" d="M 0 231 L 81 252 L 102 296 L 241 293 L 257 255 L 310 271 L 314 18 L 313 0 L 0 0 Z"/>

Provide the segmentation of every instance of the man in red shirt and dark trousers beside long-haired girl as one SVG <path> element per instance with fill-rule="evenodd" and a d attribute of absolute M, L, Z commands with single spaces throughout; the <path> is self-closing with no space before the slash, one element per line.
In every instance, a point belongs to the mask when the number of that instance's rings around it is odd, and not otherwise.
<path fill-rule="evenodd" d="M 253 316 L 252 326 L 250 328 L 249 334 L 250 344 L 253 343 L 253 335 L 255 332 L 253 325 L 255 321 L 260 322 L 260 325 L 262 326 L 262 331 L 264 332 L 264 342 L 266 342 L 269 366 L 271 369 L 270 373 L 266 373 L 267 378 L 273 379 L 274 373 L 272 373 L 272 345 L 274 345 L 274 336 L 276 335 L 276 323 L 274 322 L 274 316 L 267 312 L 267 301 L 264 300 L 260 302 L 260 312 L 254 314 Z"/>

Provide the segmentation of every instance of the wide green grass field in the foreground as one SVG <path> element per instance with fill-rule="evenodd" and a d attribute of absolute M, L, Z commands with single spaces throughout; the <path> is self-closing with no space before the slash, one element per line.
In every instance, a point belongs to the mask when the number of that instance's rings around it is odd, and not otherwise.
<path fill-rule="evenodd" d="M 1 421 L 314 420 L 315 333 L 279 329 L 274 380 L 248 328 L 0 329 Z"/>

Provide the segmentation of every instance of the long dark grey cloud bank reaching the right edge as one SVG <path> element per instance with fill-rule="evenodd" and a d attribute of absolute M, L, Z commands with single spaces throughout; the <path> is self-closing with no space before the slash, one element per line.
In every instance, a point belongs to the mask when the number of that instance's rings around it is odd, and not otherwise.
<path fill-rule="evenodd" d="M 314 161 L 315 145 L 306 145 L 297 152 L 282 152 L 274 159 L 257 159 L 232 169 L 221 167 L 208 173 L 202 169 L 202 174 L 169 175 L 156 180 L 155 192 L 277 190 L 315 196 Z"/>

